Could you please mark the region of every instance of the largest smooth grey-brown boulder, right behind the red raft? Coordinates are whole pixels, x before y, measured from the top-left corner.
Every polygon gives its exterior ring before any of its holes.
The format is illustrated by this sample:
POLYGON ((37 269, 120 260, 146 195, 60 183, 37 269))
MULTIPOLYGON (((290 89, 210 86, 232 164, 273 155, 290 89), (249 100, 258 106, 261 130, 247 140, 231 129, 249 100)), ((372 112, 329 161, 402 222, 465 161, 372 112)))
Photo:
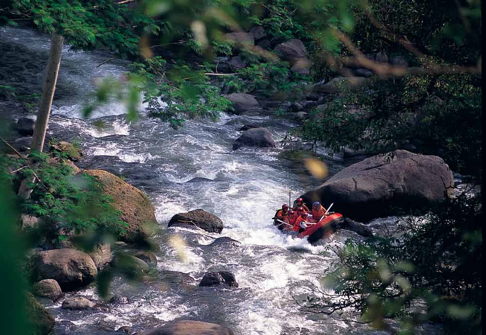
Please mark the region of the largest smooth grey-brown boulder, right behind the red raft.
POLYGON ((341 170, 302 195, 304 201, 319 201, 324 206, 334 203, 333 211, 365 222, 389 213, 392 207, 430 207, 452 195, 452 172, 440 157, 406 150, 390 154, 364 159, 341 170))

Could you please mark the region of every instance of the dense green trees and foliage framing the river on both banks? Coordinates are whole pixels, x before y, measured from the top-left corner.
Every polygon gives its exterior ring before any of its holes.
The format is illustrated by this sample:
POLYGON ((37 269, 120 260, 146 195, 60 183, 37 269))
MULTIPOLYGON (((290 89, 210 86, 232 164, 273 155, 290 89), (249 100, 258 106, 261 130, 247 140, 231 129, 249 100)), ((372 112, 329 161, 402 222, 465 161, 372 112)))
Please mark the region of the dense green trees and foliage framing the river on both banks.
MULTIPOLYGON (((64 36, 73 49, 107 49, 132 61, 126 86, 113 80, 101 83, 86 115, 120 98, 128 101, 128 114, 135 119, 141 92, 150 114, 174 127, 186 118, 214 120, 231 108, 222 88, 293 99, 304 83, 329 81, 352 67, 373 70, 365 88, 330 94, 325 112, 315 109, 289 131, 288 139, 336 151, 347 146, 370 153, 412 148, 436 154, 453 171, 472 176, 479 191, 405 220, 395 235, 348 241, 337 250, 339 262, 325 277, 333 292, 313 287, 308 299, 297 301, 307 311, 333 316, 352 308, 340 317, 380 329, 386 328, 386 318, 396 317, 403 334, 426 320, 447 323, 451 334, 481 333, 481 1, 134 2, 6 1, 0 21, 29 22, 42 32, 64 36), (295 73, 275 55, 223 39, 225 33, 253 26, 263 27, 275 41, 301 39, 312 60, 310 74, 295 73), (176 52, 175 65, 164 58, 164 48, 176 52), (365 54, 376 53, 399 56, 409 67, 370 63, 365 54), (190 61, 193 55, 202 61, 190 61), (218 55, 239 55, 247 65, 230 75, 212 76, 217 72, 212 60, 218 55), (417 303, 423 304, 423 313, 415 313, 417 303)), ((0 94, 31 107, 37 98, 15 96, 15 88, 5 86, 0 94)), ((30 159, 11 164, 2 157, 0 180, 9 191, 32 171, 41 182, 31 185, 30 199, 14 199, 9 192, 0 206, 9 201, 18 212, 62 221, 77 233, 117 236, 123 231, 119 213, 92 178, 80 176, 83 187, 78 187, 63 163, 48 164, 38 153, 30 159), (27 163, 32 169, 15 177, 8 173, 7 166, 12 171, 27 163)), ((11 221, 18 222, 14 215, 2 219, 6 221, 0 226, 7 230, 11 221)), ((10 230, 5 234, 12 235, 10 230)), ((54 237, 62 242, 61 235, 54 237)))

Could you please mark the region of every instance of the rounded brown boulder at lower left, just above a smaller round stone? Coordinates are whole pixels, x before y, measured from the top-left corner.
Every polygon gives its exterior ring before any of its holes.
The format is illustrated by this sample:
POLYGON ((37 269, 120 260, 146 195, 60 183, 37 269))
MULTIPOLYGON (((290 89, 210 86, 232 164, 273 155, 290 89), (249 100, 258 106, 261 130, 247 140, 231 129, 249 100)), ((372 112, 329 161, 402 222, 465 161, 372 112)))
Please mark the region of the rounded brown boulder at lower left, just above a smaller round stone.
POLYGON ((38 252, 30 259, 30 268, 34 281, 54 279, 63 290, 89 284, 98 274, 91 257, 74 249, 38 252))

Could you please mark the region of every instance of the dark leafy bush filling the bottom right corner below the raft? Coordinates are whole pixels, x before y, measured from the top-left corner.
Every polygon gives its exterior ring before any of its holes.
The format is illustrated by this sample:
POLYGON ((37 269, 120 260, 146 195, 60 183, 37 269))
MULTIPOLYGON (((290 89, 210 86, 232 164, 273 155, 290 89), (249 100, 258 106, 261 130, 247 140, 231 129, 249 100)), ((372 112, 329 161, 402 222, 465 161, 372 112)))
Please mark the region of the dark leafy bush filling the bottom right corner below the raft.
MULTIPOLYGON (((446 334, 481 334, 482 196, 457 197, 423 217, 397 223, 390 236, 348 240, 323 278, 332 289, 314 290, 301 306, 355 316, 377 328, 398 317, 402 330, 426 321, 446 323, 446 334), (423 302, 425 310, 411 309, 423 302)), ((411 333, 409 333, 411 332, 411 333)))

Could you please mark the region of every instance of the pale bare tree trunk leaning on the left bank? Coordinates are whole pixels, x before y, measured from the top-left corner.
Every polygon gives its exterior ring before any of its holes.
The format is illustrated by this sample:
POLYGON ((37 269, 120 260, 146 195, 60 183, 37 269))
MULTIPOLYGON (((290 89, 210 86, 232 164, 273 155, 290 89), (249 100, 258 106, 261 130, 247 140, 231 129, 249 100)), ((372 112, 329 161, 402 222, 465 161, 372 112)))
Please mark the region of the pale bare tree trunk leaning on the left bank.
MULTIPOLYGON (((51 52, 47 62, 46 76, 44 78, 42 96, 39 103, 39 112, 37 114, 37 120, 35 121, 31 151, 41 152, 44 146, 47 124, 49 123, 49 116, 51 115, 52 98, 54 97, 57 75, 59 73, 59 66, 61 65, 62 46, 63 37, 53 33, 51 36, 51 52)), ((35 177, 22 180, 22 184, 18 189, 18 195, 24 199, 29 198, 32 193, 32 188, 29 187, 28 184, 33 182, 35 182, 35 177)))

